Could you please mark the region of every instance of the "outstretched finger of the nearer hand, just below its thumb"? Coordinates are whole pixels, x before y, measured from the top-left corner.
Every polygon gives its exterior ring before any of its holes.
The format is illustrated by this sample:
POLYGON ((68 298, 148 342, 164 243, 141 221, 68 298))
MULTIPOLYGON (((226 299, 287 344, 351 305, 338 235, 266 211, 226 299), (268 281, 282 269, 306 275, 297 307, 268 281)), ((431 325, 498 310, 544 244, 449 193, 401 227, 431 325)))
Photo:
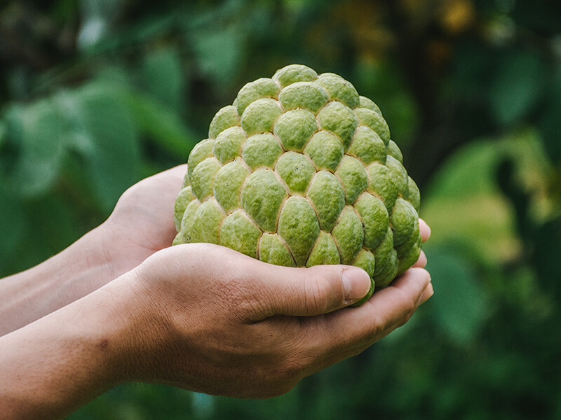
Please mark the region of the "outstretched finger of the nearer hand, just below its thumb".
POLYGON ((360 307, 337 311, 325 317, 318 325, 312 325, 309 333, 316 334, 318 346, 330 337, 331 343, 344 349, 370 345, 403 325, 417 310, 424 291, 431 283, 431 276, 425 269, 411 268, 390 286, 374 293, 370 300, 360 307))

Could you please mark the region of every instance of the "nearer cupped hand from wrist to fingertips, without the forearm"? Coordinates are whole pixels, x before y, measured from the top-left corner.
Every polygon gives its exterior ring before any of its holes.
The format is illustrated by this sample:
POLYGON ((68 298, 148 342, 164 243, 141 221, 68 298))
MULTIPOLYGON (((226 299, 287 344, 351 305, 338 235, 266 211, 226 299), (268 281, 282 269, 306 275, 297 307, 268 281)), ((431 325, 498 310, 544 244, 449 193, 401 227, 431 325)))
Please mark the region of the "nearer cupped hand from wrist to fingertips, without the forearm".
POLYGON ((278 267, 212 244, 164 249, 121 279, 137 329, 127 379, 241 398, 283 394, 360 353, 432 295, 414 267, 351 308, 370 287, 363 269, 278 267))

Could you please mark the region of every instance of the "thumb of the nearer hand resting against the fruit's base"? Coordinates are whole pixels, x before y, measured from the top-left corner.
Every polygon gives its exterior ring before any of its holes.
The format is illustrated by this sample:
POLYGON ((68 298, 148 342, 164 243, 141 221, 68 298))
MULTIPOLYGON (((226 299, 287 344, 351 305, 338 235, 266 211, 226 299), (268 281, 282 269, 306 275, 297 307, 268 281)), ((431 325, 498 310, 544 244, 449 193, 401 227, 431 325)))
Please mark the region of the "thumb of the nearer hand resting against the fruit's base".
POLYGON ((266 316, 312 316, 347 307, 370 290, 370 276, 359 267, 316 265, 309 268, 265 264, 266 316))

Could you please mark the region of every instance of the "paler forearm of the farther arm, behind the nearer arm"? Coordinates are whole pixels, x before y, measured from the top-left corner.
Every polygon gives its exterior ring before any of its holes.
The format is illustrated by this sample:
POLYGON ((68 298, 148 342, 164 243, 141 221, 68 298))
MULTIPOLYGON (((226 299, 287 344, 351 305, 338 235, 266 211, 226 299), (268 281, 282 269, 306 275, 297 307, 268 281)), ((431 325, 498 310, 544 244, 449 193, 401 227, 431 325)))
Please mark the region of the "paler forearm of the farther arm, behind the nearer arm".
POLYGON ((104 229, 102 225, 40 265, 0 280, 0 336, 114 279, 107 244, 102 244, 104 229))

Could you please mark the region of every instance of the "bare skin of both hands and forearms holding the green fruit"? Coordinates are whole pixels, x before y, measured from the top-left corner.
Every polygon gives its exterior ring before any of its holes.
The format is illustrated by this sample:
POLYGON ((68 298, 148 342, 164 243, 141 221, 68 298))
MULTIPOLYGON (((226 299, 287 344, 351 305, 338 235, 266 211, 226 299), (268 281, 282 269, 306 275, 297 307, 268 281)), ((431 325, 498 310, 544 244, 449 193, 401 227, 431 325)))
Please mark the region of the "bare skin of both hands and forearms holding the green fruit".
MULTIPOLYGON (((60 418, 127 381, 281 395, 367 349, 433 294, 424 254, 346 308, 370 286, 358 267, 276 267, 212 244, 169 248, 183 174, 138 183, 99 228, 0 281, 6 419, 60 418)), ((421 234, 430 235, 424 222, 421 234)))

